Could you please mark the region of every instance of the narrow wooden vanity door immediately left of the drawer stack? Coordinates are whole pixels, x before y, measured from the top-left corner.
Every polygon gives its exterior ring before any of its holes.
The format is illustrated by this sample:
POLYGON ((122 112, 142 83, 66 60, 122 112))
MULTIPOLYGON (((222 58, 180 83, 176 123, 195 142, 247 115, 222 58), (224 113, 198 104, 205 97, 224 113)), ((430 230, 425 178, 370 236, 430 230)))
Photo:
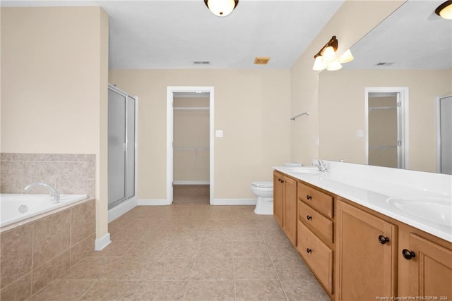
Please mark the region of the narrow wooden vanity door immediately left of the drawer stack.
POLYGON ((297 180, 284 176, 283 230, 292 244, 297 246, 297 180))

